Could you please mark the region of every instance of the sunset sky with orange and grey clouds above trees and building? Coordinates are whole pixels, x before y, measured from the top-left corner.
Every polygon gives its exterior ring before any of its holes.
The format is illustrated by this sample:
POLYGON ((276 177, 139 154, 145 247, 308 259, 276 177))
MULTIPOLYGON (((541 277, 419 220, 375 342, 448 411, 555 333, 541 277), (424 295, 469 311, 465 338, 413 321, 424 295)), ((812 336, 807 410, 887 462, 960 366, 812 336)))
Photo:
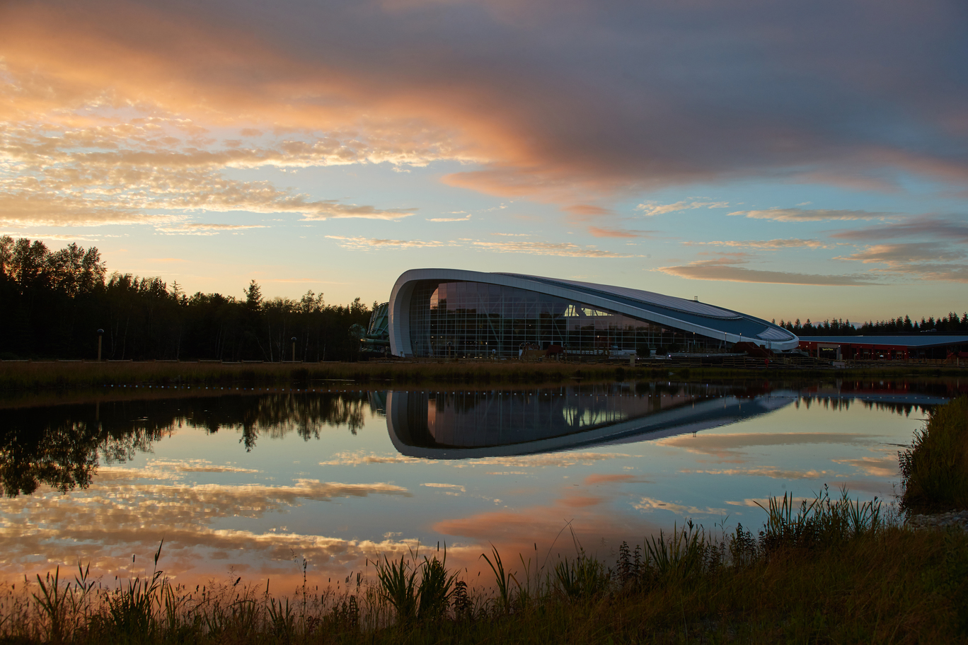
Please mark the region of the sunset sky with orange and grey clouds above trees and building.
POLYGON ((404 271, 968 308, 968 5, 0 4, 0 234, 188 293, 404 271))

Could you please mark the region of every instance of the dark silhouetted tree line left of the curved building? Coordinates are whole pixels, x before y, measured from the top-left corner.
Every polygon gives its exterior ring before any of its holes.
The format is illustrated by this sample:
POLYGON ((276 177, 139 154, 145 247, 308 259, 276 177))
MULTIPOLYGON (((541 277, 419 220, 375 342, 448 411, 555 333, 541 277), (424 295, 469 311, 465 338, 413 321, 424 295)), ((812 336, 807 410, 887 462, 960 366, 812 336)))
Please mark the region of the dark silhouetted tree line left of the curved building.
MULTIPOLYGON (((375 304, 376 305, 376 304, 375 304)), ((255 280, 239 298, 188 295, 178 282, 107 274, 100 251, 0 237, 0 358, 352 361, 371 309, 356 298, 326 305, 263 298, 255 280), (352 328, 352 330, 350 329, 352 328)))

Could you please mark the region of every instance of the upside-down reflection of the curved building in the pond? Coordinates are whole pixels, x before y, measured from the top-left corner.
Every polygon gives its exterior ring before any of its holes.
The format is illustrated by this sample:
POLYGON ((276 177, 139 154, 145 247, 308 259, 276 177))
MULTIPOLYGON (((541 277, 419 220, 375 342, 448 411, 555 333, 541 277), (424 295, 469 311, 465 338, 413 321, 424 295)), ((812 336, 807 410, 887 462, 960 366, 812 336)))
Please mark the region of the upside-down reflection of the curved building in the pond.
POLYGON ((390 392, 386 424, 402 454, 432 459, 533 454, 625 443, 736 423, 798 393, 738 393, 701 384, 634 389, 390 392))

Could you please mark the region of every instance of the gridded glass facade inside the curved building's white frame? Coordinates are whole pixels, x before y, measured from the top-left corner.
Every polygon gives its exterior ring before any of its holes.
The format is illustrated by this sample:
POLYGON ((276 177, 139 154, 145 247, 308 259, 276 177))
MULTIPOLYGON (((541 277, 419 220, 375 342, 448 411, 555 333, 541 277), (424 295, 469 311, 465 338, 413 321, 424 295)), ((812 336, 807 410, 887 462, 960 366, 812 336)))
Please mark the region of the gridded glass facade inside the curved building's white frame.
POLYGON ((560 346, 569 355, 722 351, 723 341, 499 284, 421 280, 409 310, 413 355, 517 358, 560 346))

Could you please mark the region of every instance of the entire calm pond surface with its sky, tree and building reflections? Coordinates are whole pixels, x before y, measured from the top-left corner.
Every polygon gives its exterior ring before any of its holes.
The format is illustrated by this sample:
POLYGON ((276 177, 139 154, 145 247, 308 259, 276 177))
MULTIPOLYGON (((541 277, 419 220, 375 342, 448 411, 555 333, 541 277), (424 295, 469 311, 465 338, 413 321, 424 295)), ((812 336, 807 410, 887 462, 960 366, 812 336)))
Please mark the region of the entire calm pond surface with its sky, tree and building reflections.
POLYGON ((688 518, 758 528, 756 502, 784 492, 890 499, 899 445, 959 387, 126 389, 8 407, 0 568, 128 575, 164 538, 182 581, 286 589, 302 558, 335 584, 418 541, 468 567, 489 542, 545 557, 573 549, 566 526, 609 558, 688 518))

